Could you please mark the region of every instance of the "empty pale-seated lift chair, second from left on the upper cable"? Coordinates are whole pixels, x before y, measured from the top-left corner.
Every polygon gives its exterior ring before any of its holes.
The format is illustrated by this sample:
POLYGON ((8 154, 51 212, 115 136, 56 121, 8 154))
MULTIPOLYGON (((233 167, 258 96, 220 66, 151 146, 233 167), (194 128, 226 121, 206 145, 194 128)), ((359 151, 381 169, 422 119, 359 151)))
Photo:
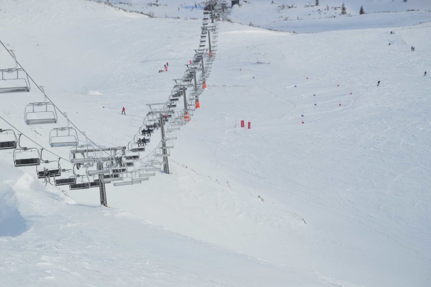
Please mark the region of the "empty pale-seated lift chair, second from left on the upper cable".
POLYGON ((53 103, 48 102, 47 95, 42 87, 39 87, 44 93, 45 101, 38 103, 29 103, 25 106, 24 120, 27 125, 39 124, 56 124, 57 112, 53 103))

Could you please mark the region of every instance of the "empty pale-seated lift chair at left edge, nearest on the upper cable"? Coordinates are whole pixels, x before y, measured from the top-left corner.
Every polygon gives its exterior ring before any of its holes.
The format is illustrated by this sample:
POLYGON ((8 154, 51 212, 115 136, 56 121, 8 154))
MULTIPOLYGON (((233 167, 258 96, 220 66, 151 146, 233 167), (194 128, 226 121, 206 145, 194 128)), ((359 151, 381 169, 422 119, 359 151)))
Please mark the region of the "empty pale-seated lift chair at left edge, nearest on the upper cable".
POLYGON ((18 62, 12 50, 9 50, 15 60, 13 68, 0 69, 0 93, 30 92, 30 81, 28 74, 23 68, 18 68, 18 62))

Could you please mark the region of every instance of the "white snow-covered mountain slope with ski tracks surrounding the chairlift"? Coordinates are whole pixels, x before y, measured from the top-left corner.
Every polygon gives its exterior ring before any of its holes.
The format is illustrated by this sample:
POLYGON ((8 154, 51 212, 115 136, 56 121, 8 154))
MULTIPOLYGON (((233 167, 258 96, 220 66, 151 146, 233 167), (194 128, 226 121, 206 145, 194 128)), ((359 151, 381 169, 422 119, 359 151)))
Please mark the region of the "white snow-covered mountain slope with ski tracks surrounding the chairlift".
MULTIPOLYGON (((208 88, 177 131, 170 175, 108 184, 105 208, 98 189, 45 186, 0 151, 1 286, 431 285, 429 3, 364 1, 370 13, 359 16, 345 1, 351 16, 275 23, 270 1, 248 2, 230 16, 246 25, 219 23, 208 88)), ((148 13, 131 3, 118 7, 148 13)), ((0 40, 89 139, 126 145, 199 45, 202 9, 158 3, 150 18, 91 1, 4 0, 0 40)), ((292 17, 309 9, 296 6, 292 17)), ((0 48, 0 68, 13 66, 0 48)), ((0 128, 69 158, 49 147, 50 130, 67 124, 60 113, 57 125, 25 124, 25 105, 44 100, 31 85, 0 95, 13 125, 0 128)))

